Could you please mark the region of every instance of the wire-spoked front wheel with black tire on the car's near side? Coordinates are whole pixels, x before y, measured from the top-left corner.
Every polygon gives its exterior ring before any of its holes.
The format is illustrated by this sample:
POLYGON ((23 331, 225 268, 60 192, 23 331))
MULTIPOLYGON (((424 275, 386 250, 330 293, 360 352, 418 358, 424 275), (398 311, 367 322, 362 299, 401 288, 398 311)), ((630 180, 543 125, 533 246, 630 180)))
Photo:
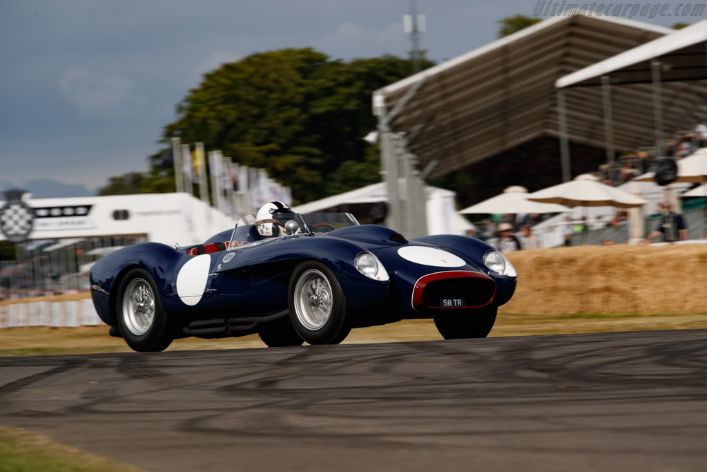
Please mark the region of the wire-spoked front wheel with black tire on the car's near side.
POLYGON ((314 261, 298 265, 288 299, 292 325, 307 343, 339 344, 349 335, 346 297, 326 265, 314 261))

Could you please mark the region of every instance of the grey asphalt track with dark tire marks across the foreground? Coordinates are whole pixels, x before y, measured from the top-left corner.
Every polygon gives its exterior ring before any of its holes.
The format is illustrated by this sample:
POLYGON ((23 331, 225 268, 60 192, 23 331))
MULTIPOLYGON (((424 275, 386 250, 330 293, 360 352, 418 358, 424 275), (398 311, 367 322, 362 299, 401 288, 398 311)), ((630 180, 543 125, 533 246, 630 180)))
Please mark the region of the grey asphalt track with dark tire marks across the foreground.
POLYGON ((148 471, 707 469, 707 330, 6 357, 0 384, 0 425, 148 471))

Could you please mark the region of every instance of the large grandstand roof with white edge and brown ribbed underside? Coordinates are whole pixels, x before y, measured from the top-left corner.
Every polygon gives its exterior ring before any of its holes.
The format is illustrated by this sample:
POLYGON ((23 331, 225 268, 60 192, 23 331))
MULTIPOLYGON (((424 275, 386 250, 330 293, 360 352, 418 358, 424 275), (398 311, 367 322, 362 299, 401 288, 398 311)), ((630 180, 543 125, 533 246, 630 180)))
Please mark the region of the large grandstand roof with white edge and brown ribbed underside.
MULTIPOLYGON (((558 136, 556 79, 673 31, 614 17, 557 16, 375 91, 374 111, 384 100, 390 113, 409 92, 390 125, 409 133, 421 165, 440 161, 431 177, 444 175, 537 137, 558 136)), ((653 136, 650 86, 631 87, 614 97, 619 151, 653 136)), ((696 96, 707 96, 705 84, 666 85, 670 132, 697 120, 696 96)), ((571 142, 603 147, 600 88, 573 89, 566 101, 571 142)))

